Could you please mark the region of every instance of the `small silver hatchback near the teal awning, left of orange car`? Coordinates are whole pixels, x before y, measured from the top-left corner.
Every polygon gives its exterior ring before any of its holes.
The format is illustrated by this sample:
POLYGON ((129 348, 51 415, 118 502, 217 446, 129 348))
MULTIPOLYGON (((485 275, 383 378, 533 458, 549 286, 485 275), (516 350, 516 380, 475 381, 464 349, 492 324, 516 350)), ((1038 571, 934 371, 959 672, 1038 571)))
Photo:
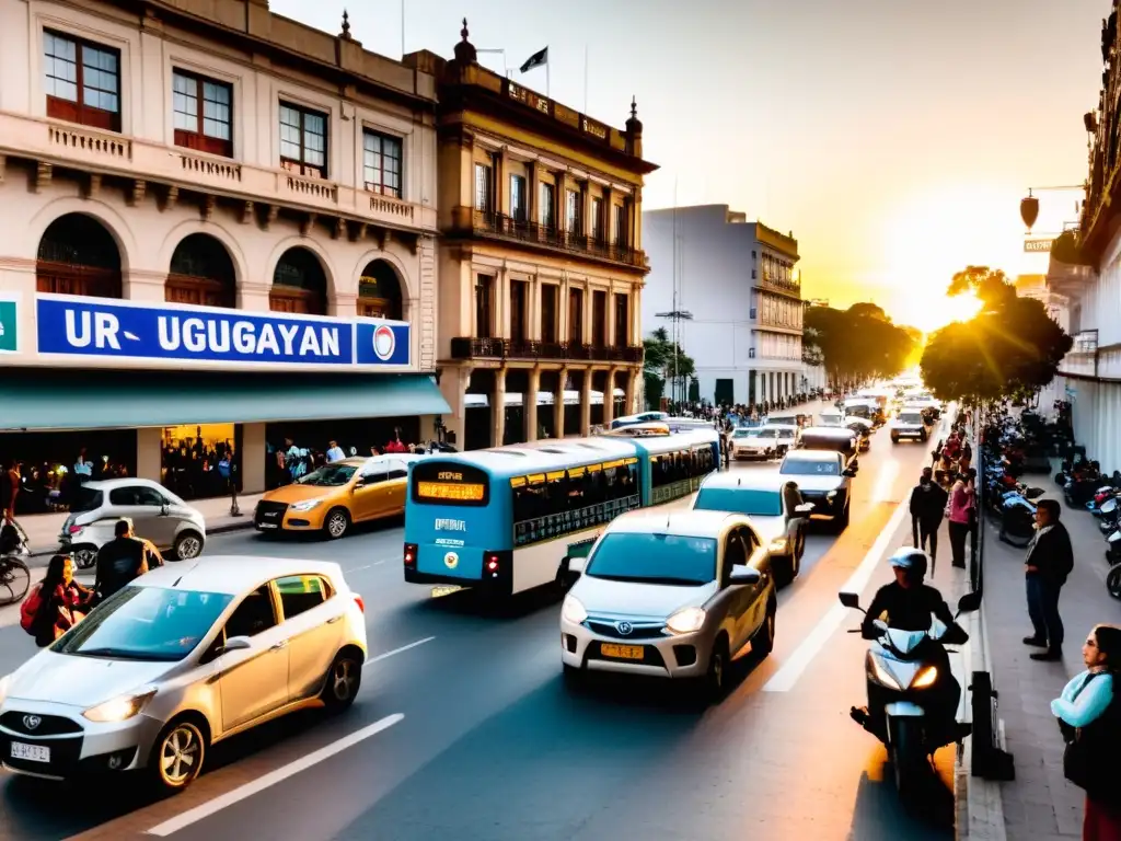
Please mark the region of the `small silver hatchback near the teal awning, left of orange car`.
POLYGON ((75 492, 58 540, 80 570, 93 566, 98 549, 113 539, 120 519, 132 520, 138 537, 179 561, 202 554, 206 521, 202 511, 150 479, 86 482, 75 492))

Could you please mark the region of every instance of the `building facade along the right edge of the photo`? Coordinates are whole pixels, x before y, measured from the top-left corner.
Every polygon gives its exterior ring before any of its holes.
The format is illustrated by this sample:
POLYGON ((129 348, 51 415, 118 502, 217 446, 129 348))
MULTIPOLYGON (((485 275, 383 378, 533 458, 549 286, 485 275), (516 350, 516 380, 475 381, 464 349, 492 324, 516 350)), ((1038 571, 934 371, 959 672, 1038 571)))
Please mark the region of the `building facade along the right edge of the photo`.
MULTIPOLYGON (((1076 248, 1051 250, 1047 286, 1067 302, 1074 346, 1059 373, 1075 442, 1102 470, 1121 470, 1121 40, 1117 0, 1102 22, 1102 87, 1084 118, 1091 133, 1076 248), (1058 251, 1056 253, 1056 251, 1058 251)), ((1073 130, 1074 127, 1072 127, 1073 130)))

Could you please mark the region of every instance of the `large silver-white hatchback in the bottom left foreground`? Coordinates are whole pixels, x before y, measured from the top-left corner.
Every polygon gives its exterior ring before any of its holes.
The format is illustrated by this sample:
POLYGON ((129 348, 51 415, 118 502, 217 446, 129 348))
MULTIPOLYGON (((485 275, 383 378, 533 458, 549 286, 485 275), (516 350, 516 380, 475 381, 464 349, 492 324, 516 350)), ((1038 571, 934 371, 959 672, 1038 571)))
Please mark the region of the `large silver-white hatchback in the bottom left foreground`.
POLYGON ((351 705, 362 599, 337 564, 216 556, 154 570, 0 678, 0 764, 47 779, 198 776, 212 745, 351 705))

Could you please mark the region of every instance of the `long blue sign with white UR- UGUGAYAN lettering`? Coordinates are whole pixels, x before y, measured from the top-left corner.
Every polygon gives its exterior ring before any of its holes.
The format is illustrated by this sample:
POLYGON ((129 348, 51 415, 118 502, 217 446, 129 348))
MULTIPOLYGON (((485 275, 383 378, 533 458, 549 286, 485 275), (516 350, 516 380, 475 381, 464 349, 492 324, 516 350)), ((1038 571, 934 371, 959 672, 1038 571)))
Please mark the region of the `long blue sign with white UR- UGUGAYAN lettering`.
POLYGON ((39 353, 316 366, 405 366, 409 325, 70 295, 36 299, 39 353))

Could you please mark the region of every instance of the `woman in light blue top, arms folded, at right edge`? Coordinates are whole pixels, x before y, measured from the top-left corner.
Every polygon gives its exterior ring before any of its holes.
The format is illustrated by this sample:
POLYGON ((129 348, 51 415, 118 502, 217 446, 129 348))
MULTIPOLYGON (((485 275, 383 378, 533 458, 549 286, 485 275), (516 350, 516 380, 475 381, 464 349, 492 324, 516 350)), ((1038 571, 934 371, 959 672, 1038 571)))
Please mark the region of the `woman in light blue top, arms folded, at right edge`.
POLYGON ((1086 671, 1051 701, 1066 741, 1063 770, 1086 792, 1083 841, 1121 841, 1121 628, 1099 625, 1082 646, 1086 671))

